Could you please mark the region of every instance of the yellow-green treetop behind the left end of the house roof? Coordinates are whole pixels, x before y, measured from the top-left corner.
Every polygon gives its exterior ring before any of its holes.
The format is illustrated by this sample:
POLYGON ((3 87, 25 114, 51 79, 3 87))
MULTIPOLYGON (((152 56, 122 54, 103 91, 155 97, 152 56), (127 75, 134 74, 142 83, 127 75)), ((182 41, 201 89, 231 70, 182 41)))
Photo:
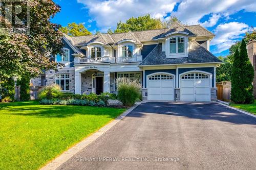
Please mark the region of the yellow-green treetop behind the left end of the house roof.
POLYGON ((62 33, 65 33, 71 37, 74 36, 83 36, 83 35, 91 35, 92 33, 84 27, 82 23, 68 23, 67 27, 61 27, 59 29, 62 33))

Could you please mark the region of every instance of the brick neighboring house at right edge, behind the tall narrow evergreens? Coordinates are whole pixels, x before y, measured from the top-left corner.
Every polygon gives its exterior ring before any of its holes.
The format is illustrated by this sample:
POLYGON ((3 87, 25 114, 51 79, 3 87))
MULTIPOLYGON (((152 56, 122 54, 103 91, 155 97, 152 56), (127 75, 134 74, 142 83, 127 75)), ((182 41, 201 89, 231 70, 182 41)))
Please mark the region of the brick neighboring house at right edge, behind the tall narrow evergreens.
POLYGON ((246 48, 249 60, 254 68, 253 95, 254 99, 256 99, 256 40, 249 41, 246 44, 246 48))

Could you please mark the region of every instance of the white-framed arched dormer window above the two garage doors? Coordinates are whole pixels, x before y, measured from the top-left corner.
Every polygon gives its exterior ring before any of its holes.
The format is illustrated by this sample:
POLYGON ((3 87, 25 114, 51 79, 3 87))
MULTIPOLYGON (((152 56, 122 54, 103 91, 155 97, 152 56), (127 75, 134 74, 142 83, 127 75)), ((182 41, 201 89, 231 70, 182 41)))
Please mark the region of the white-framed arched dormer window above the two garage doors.
POLYGON ((184 38, 174 37, 170 39, 170 54, 184 53, 184 38))

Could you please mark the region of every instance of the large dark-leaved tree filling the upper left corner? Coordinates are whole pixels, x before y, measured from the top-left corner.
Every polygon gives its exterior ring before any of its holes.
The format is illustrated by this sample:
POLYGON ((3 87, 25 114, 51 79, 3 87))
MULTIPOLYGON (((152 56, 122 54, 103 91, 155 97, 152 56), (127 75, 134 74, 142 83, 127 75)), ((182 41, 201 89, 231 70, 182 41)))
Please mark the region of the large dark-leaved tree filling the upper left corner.
MULTIPOLYGON (((0 18, 0 82, 14 76, 34 77, 42 70, 55 69, 57 63, 50 60, 50 54, 62 53, 62 33, 58 31, 60 26, 50 21, 60 11, 60 7, 51 0, 24 1, 20 6, 29 7, 29 34, 11 31, 14 27, 5 15, 0 18)), ((20 15, 26 14, 27 11, 23 10, 20 15)), ((23 21, 26 23, 28 20, 23 21)))

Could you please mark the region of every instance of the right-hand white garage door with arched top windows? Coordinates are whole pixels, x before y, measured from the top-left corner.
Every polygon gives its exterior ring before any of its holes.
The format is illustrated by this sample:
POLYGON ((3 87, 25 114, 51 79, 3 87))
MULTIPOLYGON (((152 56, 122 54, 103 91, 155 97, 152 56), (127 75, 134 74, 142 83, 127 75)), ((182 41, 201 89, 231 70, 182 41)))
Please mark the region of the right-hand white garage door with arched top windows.
POLYGON ((210 77, 201 73, 181 76, 181 101, 210 101, 210 77))

